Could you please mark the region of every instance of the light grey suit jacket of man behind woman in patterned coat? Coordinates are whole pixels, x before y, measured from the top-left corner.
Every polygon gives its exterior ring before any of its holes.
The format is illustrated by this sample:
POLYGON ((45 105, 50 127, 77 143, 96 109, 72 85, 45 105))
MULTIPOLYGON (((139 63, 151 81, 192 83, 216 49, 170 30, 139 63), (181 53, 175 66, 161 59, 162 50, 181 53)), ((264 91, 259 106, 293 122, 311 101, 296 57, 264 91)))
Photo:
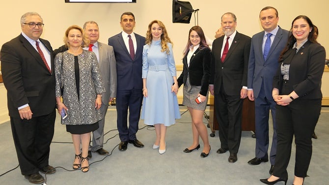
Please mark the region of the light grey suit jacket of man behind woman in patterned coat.
POLYGON ((109 104, 110 97, 116 96, 116 61, 112 46, 98 43, 99 68, 102 74, 105 93, 103 93, 103 104, 109 104))

